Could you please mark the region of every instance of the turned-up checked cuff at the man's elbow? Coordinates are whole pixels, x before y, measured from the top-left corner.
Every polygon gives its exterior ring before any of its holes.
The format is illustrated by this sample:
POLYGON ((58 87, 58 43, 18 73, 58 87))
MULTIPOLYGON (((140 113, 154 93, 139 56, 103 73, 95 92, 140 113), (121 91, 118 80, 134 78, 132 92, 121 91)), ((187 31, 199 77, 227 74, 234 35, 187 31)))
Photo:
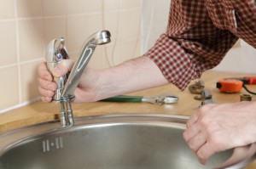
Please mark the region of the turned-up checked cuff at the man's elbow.
POLYGON ((184 90, 189 82, 201 76, 201 70, 192 63, 193 54, 186 50, 173 38, 162 34, 146 54, 160 68, 168 82, 184 90))

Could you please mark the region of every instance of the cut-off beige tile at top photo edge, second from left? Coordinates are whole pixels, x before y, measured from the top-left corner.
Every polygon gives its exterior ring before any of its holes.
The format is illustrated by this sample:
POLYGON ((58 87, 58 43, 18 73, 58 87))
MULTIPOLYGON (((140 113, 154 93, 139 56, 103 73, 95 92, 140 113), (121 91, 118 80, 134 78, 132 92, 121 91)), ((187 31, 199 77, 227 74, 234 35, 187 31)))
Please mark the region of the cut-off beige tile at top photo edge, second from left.
POLYGON ((42 16, 42 0, 16 0, 18 18, 42 16))

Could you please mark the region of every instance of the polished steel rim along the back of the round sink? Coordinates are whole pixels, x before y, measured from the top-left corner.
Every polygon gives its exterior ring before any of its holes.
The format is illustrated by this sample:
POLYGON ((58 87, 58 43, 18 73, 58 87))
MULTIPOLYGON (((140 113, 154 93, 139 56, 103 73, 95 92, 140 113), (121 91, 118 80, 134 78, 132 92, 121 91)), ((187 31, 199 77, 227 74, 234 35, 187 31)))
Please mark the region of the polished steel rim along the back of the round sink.
POLYGON ((16 144, 23 142, 28 138, 38 137, 47 132, 59 132, 72 130, 77 127, 90 126, 107 123, 131 123, 131 122, 168 122, 173 127, 186 128, 187 115, 172 114, 148 114, 148 113, 128 113, 128 114, 108 114, 108 115, 84 115, 75 117, 75 125, 72 127, 61 127, 60 120, 45 121, 38 124, 28 125, 26 127, 16 128, 7 132, 0 133, 0 156, 11 149, 16 144))

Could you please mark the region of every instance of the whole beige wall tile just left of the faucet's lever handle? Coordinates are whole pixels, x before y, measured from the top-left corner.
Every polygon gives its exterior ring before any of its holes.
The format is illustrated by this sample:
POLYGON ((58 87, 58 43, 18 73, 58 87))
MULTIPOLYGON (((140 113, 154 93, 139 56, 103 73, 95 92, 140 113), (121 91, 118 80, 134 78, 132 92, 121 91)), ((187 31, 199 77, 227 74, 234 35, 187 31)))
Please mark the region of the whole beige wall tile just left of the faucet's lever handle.
POLYGON ((19 21, 20 61, 44 55, 43 20, 19 21))

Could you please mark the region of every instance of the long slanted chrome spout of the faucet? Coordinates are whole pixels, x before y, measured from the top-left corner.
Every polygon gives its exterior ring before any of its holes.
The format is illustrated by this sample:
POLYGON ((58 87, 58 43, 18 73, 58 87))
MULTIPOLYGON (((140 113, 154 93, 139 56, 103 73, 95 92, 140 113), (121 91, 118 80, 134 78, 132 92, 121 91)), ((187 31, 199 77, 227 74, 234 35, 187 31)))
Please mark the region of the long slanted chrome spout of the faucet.
POLYGON ((109 31, 98 31, 88 37, 87 41, 84 42, 79 53, 79 58, 73 65, 73 69, 71 70, 61 93, 63 99, 73 99, 73 93, 79 85, 80 77, 84 73, 84 69, 86 65, 88 65, 96 46, 111 42, 110 37, 111 35, 109 31))

